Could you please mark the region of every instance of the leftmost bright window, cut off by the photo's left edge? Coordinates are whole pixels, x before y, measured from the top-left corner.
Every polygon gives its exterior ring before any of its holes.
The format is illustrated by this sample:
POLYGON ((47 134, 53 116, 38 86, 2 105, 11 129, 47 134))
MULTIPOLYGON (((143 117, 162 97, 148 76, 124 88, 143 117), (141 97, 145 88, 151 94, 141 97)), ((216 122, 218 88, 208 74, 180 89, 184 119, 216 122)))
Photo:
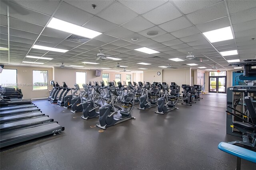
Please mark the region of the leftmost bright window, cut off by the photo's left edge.
POLYGON ((16 69, 3 69, 0 73, 0 85, 17 87, 17 70, 16 69))

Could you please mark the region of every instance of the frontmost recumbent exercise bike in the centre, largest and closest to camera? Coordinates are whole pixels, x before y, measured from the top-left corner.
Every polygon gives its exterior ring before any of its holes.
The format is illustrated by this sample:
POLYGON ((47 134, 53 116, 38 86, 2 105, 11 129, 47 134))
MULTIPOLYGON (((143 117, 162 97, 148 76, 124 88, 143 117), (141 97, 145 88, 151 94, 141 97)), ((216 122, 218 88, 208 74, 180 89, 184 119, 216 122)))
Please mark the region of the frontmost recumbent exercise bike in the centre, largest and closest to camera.
MULTIPOLYGON (((135 117, 132 116, 131 111, 133 107, 133 99, 134 94, 128 94, 126 97, 126 109, 122 110, 121 107, 115 105, 116 99, 118 97, 118 93, 116 91, 115 87, 109 87, 110 92, 112 93, 111 102, 110 104, 106 104, 104 106, 100 107, 100 117, 99 121, 100 124, 96 125, 97 127, 106 130, 106 127, 110 127, 113 125, 116 125, 117 123, 121 123, 123 121, 129 120, 129 119, 135 119, 135 117), (121 116, 114 116, 116 113, 121 114, 121 116)), ((133 89, 133 88, 131 88, 133 89)))

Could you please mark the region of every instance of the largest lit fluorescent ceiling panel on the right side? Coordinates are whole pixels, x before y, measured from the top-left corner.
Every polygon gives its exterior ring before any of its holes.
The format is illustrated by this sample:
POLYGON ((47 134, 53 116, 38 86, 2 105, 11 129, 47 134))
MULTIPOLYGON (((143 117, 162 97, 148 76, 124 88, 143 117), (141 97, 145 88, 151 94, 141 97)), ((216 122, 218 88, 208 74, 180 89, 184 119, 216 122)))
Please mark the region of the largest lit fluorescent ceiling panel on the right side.
POLYGON ((212 31, 204 32, 203 34, 211 43, 234 39, 230 27, 215 29, 212 31))

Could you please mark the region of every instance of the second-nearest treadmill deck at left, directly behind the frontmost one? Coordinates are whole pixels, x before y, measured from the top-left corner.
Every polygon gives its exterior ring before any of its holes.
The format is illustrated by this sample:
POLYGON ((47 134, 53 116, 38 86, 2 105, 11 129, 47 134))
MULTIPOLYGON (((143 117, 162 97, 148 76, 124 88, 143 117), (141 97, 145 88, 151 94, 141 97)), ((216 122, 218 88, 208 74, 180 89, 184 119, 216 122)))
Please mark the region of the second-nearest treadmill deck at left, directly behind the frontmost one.
POLYGON ((49 123, 52 121, 53 121, 53 119, 49 118, 48 116, 40 116, 40 117, 34 117, 34 118, 30 118, 30 119, 22 119, 20 121, 14 121, 14 122, 10 122, 10 123, 1 124, 0 130, 1 130, 1 132, 6 131, 6 130, 10 131, 13 129, 19 129, 19 128, 28 127, 28 126, 49 123))

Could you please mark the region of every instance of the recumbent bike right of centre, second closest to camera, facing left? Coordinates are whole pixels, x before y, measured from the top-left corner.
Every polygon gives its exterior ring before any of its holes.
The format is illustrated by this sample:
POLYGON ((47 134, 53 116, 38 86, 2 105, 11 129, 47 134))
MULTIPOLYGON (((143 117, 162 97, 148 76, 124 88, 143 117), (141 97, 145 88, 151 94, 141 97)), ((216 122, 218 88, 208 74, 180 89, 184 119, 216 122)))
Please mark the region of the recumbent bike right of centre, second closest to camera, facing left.
POLYGON ((158 99, 158 111, 155 111, 155 113, 158 114, 164 114, 166 112, 172 111, 174 109, 179 109, 178 107, 175 107, 179 97, 176 96, 176 90, 175 88, 171 90, 170 95, 169 93, 169 87, 168 85, 162 85, 162 88, 164 90, 163 97, 158 99))

